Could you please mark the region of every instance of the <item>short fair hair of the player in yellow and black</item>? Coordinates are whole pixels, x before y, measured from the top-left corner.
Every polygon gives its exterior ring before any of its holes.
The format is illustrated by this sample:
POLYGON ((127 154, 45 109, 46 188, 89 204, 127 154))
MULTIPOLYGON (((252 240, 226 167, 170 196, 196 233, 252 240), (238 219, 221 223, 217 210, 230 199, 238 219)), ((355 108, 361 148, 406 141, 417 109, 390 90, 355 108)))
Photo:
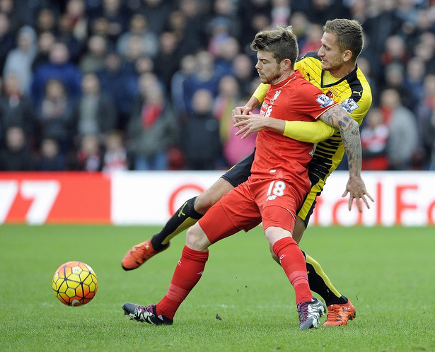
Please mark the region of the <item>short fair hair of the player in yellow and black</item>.
POLYGON ((323 32, 334 34, 337 37, 337 45, 340 50, 350 50, 352 60, 356 61, 364 47, 363 30, 357 20, 348 20, 347 18, 327 20, 323 26, 323 32))

